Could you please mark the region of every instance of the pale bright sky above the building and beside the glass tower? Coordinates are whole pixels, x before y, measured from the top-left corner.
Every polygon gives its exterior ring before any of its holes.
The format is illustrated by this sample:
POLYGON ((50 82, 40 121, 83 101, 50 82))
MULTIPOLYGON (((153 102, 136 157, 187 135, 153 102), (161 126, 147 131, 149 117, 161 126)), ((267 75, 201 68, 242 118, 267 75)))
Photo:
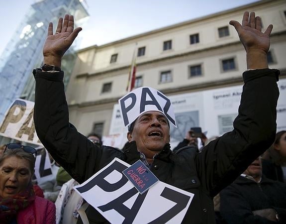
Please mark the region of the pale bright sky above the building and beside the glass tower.
MULTIPOLYGON (((86 0, 81 48, 102 45, 257 0, 86 0)), ((0 54, 35 0, 2 0, 0 54)))

